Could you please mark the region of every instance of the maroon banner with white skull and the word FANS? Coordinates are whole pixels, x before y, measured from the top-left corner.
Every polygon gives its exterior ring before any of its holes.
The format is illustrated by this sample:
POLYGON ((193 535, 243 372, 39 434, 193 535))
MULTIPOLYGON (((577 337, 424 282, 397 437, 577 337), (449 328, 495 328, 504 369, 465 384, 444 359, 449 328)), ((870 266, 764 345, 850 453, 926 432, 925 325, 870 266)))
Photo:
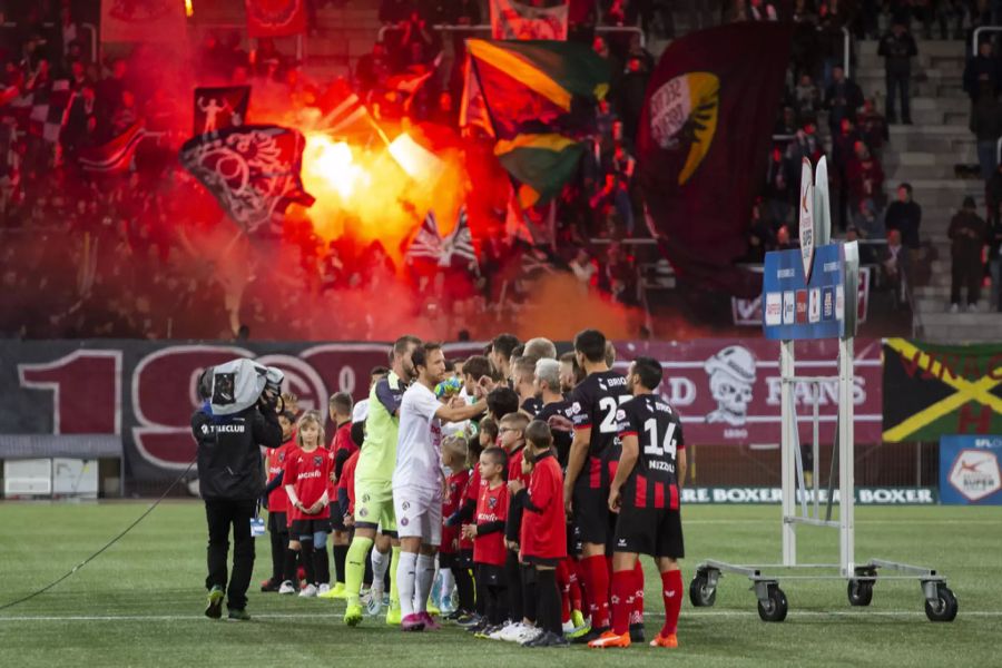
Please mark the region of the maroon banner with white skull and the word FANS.
MULTIPOLYGON (((686 443, 779 442, 779 344, 763 338, 705 338, 686 342, 617 342, 616 369, 626 372, 630 360, 649 355, 661 361, 665 380, 659 392, 678 411, 686 443)), ((797 372, 836 375, 838 342, 796 343, 797 372)), ((882 433, 881 344, 857 338, 853 404, 856 443, 880 443, 882 433)), ((832 443, 838 412, 838 382, 796 383, 794 399, 800 442, 813 438, 811 420, 818 404, 821 438, 832 443)))

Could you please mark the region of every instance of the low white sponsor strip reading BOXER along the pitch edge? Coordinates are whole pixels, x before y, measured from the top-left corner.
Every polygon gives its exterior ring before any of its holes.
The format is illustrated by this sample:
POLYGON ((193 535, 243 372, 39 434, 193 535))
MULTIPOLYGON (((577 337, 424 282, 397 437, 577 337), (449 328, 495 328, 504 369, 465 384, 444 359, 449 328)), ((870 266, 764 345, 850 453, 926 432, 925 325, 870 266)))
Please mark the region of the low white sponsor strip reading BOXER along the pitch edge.
MULTIPOLYGON (((802 494, 797 492, 797 502, 802 494)), ((807 502, 814 501, 813 490, 805 495, 807 502)), ((835 503, 838 503, 838 490, 834 490, 835 503)), ((856 488, 857 505, 934 505, 937 502, 935 488, 856 488)), ((818 501, 827 503, 828 491, 819 490, 818 501)), ((705 504, 772 504, 783 502, 780 488, 744 488, 744 487, 687 487, 681 490, 681 503, 691 505, 705 504)))

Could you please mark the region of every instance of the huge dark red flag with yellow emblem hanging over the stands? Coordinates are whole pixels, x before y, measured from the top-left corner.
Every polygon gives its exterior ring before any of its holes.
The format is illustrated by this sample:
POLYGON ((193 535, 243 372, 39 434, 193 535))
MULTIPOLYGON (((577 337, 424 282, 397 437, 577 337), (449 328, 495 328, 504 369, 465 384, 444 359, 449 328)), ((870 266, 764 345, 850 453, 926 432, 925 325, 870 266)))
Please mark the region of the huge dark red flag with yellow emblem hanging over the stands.
POLYGON ((790 39, 789 23, 694 32, 665 49, 647 87, 637 143, 648 224, 689 287, 762 289, 733 263, 746 250, 790 39))

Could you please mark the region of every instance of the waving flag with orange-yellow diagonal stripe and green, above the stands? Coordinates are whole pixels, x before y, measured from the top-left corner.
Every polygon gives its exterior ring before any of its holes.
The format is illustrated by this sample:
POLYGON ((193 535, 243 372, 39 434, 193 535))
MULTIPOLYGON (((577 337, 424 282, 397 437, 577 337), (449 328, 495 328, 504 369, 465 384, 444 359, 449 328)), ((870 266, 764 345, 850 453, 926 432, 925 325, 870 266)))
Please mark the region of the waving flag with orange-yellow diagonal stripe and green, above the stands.
POLYGON ((606 59, 566 41, 466 40, 463 109, 483 109, 477 124, 498 140, 494 155, 519 181, 522 206, 559 195, 595 129, 595 105, 609 90, 606 59))

